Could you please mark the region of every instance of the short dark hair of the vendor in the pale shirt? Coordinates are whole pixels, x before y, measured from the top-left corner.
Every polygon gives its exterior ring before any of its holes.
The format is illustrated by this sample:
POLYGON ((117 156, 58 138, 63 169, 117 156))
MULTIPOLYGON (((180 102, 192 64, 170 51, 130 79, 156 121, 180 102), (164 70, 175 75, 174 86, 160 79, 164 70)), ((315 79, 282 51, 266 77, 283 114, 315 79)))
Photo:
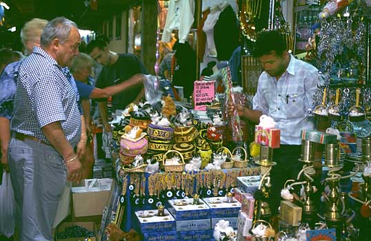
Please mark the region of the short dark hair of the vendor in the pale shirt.
POLYGON ((254 56, 259 58, 263 55, 272 54, 275 51, 281 56, 283 51, 287 50, 287 45, 283 35, 277 30, 263 30, 257 36, 255 43, 254 56))

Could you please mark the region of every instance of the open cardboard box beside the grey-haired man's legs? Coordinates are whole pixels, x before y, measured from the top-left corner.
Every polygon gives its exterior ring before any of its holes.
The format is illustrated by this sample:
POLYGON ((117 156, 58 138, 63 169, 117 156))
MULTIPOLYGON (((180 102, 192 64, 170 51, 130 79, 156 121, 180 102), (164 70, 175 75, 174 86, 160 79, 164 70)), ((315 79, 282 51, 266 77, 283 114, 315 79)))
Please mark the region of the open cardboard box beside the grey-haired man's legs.
POLYGON ((95 179, 86 180, 83 187, 72 187, 74 217, 102 215, 110 200, 112 185, 112 179, 95 179))

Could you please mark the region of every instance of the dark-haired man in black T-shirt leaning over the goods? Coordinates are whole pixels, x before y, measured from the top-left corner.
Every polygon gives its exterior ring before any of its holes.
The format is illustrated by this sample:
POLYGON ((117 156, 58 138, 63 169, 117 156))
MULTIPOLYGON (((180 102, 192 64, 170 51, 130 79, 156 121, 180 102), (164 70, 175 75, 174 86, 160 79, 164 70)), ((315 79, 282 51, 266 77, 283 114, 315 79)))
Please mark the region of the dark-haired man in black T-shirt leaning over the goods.
MULTIPOLYGON (((103 65, 103 70, 99 74, 96 87, 105 88, 116 85, 134 74, 147 74, 146 67, 134 54, 112 54, 103 41, 94 40, 86 48, 92 58, 103 65)), ((143 83, 132 87, 128 91, 120 92, 112 96, 112 109, 125 109, 127 105, 137 103, 144 95, 143 83)), ((110 125, 107 120, 106 99, 99 100, 99 112, 101 114, 103 127, 110 132, 110 125)))

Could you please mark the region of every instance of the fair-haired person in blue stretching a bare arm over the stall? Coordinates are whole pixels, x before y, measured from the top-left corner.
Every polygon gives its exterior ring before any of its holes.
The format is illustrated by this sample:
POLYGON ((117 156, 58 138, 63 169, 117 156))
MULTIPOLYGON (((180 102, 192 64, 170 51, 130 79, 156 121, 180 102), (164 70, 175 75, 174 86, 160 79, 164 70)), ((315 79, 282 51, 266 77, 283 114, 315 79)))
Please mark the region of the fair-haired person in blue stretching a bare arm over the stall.
MULTIPOLYGON (((90 74, 92 73, 92 67, 94 66, 94 60, 88 56, 88 54, 80 53, 72 61, 70 70, 74 79, 77 81, 77 90, 79 90, 79 95, 81 98, 81 105, 83 108, 83 115, 86 121, 86 132, 88 136, 92 135, 92 118, 90 116, 90 100, 97 98, 108 98, 119 92, 129 90, 135 85, 143 83, 143 74, 134 74, 127 81, 118 83, 117 85, 112 85, 99 89, 90 85, 90 74)), ((83 164, 83 178, 92 178, 92 167, 94 166, 94 156, 92 154, 92 149, 90 148, 90 143, 86 145, 86 154, 81 157, 81 162, 83 164)))

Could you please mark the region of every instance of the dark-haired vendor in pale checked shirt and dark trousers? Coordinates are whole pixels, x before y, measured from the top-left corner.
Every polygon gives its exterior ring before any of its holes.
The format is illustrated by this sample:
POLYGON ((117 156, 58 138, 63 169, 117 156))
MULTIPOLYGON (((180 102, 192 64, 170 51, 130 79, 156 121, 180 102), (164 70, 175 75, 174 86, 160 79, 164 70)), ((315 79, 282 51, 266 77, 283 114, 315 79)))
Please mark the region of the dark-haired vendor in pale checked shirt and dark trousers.
MULTIPOLYGON (((259 60, 263 73, 259 77, 253 109, 237 105, 239 116, 259 123, 262 114, 271 116, 281 129, 281 147, 274 149, 277 165, 270 171, 270 209, 278 213, 280 191, 285 180, 296 179, 302 164, 300 133, 302 129, 314 129, 308 109, 312 107, 317 85, 322 83, 316 67, 297 60, 287 50, 283 36, 276 30, 264 31, 257 37, 254 56, 259 60)), ((230 113, 234 107, 230 105, 230 113)), ((328 123, 318 123, 317 129, 325 129, 328 123)))

